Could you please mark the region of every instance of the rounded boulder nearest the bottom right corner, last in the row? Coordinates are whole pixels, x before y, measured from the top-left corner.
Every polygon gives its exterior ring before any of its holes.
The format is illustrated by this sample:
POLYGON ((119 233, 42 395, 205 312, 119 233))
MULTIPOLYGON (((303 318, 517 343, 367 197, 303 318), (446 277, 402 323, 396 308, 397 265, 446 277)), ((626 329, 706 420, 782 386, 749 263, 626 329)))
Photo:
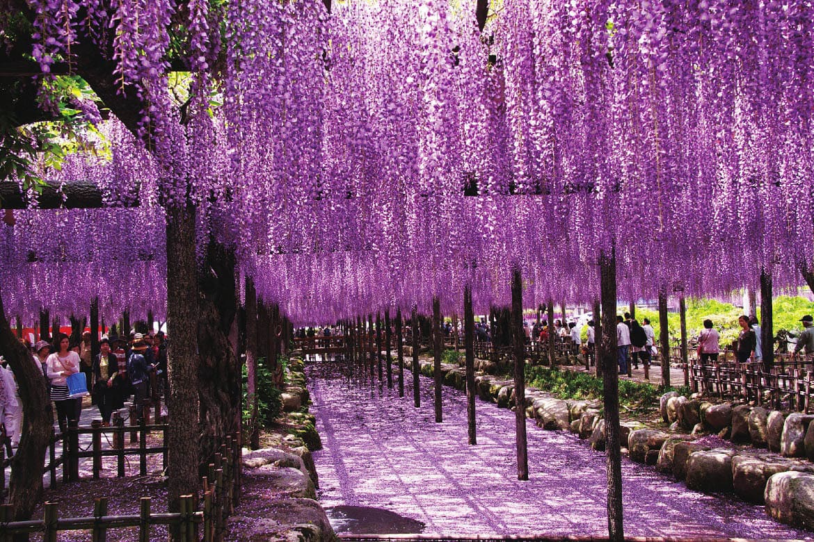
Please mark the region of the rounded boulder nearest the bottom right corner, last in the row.
POLYGON ((766 513, 781 522, 814 529, 814 475, 779 472, 766 483, 766 513))

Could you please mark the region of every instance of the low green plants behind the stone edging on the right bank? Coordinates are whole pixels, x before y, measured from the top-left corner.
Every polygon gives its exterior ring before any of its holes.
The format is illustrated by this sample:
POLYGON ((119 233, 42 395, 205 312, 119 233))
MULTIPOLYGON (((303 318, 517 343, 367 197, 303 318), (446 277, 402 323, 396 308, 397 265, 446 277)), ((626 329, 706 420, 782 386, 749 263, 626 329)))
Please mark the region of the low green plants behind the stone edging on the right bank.
MULTIPOLYGON (((557 367, 531 366, 527 368, 526 383, 549 392, 554 397, 572 401, 600 401, 603 396, 602 379, 588 373, 561 370, 557 367)), ((646 412, 659 407, 659 397, 665 391, 675 390, 689 395, 689 388, 662 388, 632 380, 619 380, 619 406, 628 411, 646 412)))

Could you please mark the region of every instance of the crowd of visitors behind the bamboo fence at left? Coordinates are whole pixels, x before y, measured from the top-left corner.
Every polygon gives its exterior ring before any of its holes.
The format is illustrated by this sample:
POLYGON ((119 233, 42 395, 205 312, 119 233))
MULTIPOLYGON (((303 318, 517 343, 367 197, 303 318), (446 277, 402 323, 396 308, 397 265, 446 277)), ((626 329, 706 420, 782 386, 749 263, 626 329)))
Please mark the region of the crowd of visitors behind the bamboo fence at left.
MULTIPOLYGON (((142 334, 133 332, 128 337, 103 335, 99 340, 99 353, 92 355, 90 332, 81 340, 72 341, 65 333, 57 333, 54 342, 38 340, 28 345, 32 360, 42 371, 42 378, 50 403, 53 403, 59 431, 68 423, 79 420, 82 397, 90 395, 102 423, 109 426, 112 413, 133 397, 138 418, 142 417, 147 397, 150 397, 151 373, 159 388, 167 383, 167 341, 164 332, 142 334), (68 386, 71 375, 85 376, 86 392, 77 392, 68 386)), ((20 443, 22 404, 15 378, 5 360, 0 364, 0 423, 6 427, 12 447, 20 443)))

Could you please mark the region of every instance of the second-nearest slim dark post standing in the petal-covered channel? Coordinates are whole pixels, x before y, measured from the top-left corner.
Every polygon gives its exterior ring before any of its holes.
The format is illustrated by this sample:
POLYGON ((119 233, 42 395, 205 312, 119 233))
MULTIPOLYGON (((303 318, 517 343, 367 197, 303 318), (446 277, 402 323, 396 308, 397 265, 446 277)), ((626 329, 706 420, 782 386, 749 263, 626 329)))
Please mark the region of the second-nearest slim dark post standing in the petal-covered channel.
MULTIPOLYGON (((471 295, 471 293, 470 293, 471 295)), ((563 309, 565 307, 563 306, 563 309)), ((514 343, 514 435, 517 441, 517 479, 528 479, 526 442, 526 333, 523 332, 523 277, 515 268, 511 280, 511 327, 514 343)), ((474 379, 473 379, 474 380, 474 379)), ((468 397, 467 397, 468 399, 468 397)))

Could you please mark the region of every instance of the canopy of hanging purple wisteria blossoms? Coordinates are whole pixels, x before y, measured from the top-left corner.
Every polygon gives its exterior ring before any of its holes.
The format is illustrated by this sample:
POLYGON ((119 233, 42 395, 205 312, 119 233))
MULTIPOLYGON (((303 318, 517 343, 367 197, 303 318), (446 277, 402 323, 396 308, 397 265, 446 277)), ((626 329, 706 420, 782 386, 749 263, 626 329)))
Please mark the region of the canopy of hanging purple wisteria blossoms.
POLYGON ((200 259, 234 246, 294 323, 452 312, 467 283, 487 310, 518 266, 527 305, 593 301, 611 247, 631 298, 793 288, 814 261, 812 2, 504 0, 482 32, 470 0, 27 5, 44 81, 113 35, 147 106, 133 129, 77 104, 112 151, 42 176, 141 206, 17 213, 9 314, 162 314, 186 197, 200 259))

